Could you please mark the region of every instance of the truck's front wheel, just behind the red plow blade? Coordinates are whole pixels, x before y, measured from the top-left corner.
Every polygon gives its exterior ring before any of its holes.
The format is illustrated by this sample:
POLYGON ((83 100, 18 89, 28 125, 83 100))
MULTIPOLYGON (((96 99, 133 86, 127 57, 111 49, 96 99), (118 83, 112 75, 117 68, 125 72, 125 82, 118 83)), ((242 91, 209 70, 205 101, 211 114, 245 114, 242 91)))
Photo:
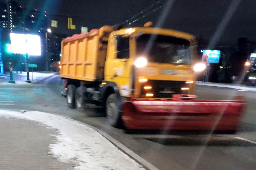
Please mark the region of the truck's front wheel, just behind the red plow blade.
POLYGON ((117 94, 110 94, 106 101, 106 117, 108 123, 113 127, 120 127, 122 124, 121 114, 118 112, 117 94))

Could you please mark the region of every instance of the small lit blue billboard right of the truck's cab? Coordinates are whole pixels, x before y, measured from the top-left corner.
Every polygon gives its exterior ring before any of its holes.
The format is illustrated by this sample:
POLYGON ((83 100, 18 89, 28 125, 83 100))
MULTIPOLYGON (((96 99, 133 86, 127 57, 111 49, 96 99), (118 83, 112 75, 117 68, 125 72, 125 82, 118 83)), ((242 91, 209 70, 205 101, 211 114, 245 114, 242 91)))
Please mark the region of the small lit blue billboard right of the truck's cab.
POLYGON ((205 63, 219 63, 220 50, 204 50, 202 61, 205 63))

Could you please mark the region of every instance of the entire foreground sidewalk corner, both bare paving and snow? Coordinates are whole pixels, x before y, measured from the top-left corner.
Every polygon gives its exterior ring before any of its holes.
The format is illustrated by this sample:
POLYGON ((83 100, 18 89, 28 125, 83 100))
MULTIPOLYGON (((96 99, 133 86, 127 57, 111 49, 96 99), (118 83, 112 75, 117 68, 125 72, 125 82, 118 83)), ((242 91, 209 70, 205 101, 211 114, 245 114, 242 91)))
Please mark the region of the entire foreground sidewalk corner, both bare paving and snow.
POLYGON ((0 169, 144 169, 88 125, 62 116, 0 110, 0 128, 0 169))

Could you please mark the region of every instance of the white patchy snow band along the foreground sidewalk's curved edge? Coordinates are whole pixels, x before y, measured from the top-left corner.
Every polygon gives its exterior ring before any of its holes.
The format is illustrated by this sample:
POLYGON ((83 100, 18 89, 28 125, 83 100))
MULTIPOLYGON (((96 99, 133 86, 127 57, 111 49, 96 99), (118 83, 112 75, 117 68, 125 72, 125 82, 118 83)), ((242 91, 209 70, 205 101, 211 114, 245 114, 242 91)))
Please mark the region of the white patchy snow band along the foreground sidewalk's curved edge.
POLYGON ((0 110, 0 117, 29 119, 57 130, 57 141, 49 145, 51 153, 60 161, 77 165, 75 169, 144 169, 100 133, 76 120, 43 112, 6 110, 0 110))

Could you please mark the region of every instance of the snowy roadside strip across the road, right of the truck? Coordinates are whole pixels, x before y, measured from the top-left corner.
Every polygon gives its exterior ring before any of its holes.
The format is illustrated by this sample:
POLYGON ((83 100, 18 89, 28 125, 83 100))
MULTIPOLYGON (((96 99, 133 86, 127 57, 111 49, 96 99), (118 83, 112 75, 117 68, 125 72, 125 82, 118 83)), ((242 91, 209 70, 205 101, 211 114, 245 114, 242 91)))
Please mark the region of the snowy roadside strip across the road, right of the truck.
POLYGON ((226 88, 234 88, 238 90, 248 90, 248 91, 256 91, 255 87, 248 87, 243 84, 224 84, 224 83, 211 83, 211 82, 196 82, 196 85, 203 86, 214 86, 214 87, 226 87, 226 88))

